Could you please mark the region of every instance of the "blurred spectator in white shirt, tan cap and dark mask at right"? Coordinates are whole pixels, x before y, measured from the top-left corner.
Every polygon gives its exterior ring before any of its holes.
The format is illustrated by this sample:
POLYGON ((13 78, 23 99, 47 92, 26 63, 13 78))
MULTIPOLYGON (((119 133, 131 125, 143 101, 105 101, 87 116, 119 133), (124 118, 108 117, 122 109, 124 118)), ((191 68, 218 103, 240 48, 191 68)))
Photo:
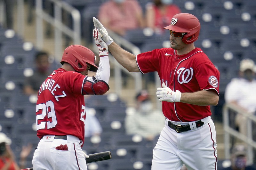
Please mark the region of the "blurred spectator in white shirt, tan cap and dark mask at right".
MULTIPOLYGON (((251 59, 240 62, 239 78, 233 78, 225 90, 225 101, 240 107, 243 112, 255 114, 256 110, 256 80, 255 63, 251 59)), ((247 135, 246 117, 237 114, 235 118, 239 131, 247 135)))

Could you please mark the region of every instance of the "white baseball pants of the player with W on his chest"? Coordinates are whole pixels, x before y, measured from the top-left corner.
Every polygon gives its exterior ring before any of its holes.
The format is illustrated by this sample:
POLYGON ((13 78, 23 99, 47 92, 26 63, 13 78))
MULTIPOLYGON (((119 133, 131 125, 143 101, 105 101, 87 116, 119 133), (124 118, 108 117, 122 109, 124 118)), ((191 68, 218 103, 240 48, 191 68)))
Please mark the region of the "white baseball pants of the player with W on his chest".
MULTIPOLYGON (((181 133, 171 129, 168 121, 165 120, 164 129, 153 150, 151 170, 180 170, 183 163, 188 170, 217 170, 216 131, 211 117, 201 120, 203 126, 181 133)), ((189 124, 171 122, 176 125, 189 124)))

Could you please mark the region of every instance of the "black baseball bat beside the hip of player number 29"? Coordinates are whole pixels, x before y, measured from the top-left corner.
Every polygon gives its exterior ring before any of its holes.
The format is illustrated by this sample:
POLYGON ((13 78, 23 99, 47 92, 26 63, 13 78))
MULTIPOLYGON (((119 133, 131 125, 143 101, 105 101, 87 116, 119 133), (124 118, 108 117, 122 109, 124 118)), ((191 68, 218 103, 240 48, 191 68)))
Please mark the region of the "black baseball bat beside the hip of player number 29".
MULTIPOLYGON (((88 156, 89 158, 85 159, 87 164, 92 162, 102 161, 102 160, 108 160, 108 159, 111 159, 112 157, 110 151, 92 153, 92 154, 89 154, 88 156)), ((20 170, 33 170, 33 168, 25 168, 20 170)))

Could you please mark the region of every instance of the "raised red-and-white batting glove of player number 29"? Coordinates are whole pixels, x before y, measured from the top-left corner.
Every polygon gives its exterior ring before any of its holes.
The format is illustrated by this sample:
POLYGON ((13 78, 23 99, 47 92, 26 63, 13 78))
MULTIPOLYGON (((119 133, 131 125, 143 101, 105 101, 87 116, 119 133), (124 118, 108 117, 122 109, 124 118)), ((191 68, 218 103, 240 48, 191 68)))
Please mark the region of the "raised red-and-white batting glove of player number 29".
POLYGON ((99 56, 100 57, 108 56, 108 46, 104 41, 102 41, 99 34, 99 30, 97 28, 93 29, 93 37, 94 37, 95 44, 99 49, 99 56))

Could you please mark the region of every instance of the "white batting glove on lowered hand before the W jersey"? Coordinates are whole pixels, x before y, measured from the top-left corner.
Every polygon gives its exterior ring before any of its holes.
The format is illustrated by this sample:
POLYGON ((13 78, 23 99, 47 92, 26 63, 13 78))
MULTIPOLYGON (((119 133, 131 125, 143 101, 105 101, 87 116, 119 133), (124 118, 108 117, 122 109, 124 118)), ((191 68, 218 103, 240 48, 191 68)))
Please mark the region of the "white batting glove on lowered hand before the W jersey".
POLYGON ((168 102, 180 102, 181 92, 176 90, 173 92, 169 87, 166 87, 165 84, 162 84, 162 88, 157 88, 156 98, 159 101, 168 101, 168 102))

